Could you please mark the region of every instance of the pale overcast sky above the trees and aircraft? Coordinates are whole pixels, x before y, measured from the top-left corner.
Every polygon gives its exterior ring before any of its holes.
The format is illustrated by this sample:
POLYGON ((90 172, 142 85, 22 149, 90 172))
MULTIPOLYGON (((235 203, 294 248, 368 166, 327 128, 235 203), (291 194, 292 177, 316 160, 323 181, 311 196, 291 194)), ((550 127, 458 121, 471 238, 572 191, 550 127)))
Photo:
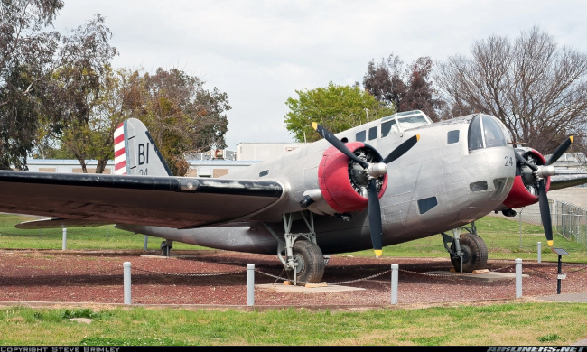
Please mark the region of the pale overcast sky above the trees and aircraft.
POLYGON ((228 149, 292 142, 296 90, 362 83, 368 62, 469 56, 489 35, 540 26, 587 52, 587 1, 576 0, 65 0, 55 28, 106 19, 116 68, 182 69, 228 94, 228 149))

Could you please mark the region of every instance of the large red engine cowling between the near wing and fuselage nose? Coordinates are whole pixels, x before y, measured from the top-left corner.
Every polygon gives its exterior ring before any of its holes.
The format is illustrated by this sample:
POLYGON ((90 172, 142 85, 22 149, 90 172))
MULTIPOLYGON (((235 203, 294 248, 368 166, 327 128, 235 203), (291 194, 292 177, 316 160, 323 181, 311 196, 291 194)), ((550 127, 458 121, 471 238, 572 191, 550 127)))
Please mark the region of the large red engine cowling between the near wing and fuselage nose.
MULTIPOLYGON (((352 142, 349 150, 366 162, 380 162, 383 158, 368 144, 352 142)), ((363 168, 335 147, 322 154, 318 167, 318 182, 322 197, 338 213, 367 208, 368 180, 363 168)), ((377 179, 378 197, 381 199, 387 188, 387 174, 377 179)))

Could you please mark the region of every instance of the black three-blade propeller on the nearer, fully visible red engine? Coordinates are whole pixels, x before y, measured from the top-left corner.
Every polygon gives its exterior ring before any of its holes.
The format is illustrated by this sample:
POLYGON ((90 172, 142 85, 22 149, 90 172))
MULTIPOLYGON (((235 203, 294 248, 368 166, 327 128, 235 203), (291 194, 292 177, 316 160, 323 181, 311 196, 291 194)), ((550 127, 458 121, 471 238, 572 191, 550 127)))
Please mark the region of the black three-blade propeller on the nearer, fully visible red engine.
POLYGON ((350 149, 340 141, 340 139, 334 136, 334 134, 331 134, 331 132, 323 126, 313 122, 312 127, 324 137, 325 140, 332 144, 332 146, 338 149, 340 153, 345 154, 353 162, 357 162, 366 173, 368 178, 368 221, 371 233, 371 243, 373 244, 375 255, 381 256, 383 253, 383 225, 377 192, 377 178, 387 173, 387 163, 393 162, 400 156, 404 155, 405 152, 409 151, 418 142, 420 134, 416 134, 405 140, 404 143, 399 144, 396 149, 389 153, 381 162, 369 163, 352 153, 350 149))

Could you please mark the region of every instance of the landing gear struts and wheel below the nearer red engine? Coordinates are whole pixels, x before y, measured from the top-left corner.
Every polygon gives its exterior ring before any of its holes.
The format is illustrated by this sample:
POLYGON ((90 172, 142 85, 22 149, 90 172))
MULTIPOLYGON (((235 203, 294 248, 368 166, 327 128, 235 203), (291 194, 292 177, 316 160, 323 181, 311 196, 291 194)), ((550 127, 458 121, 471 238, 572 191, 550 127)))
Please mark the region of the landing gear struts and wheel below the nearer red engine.
POLYGON ((284 264, 288 278, 293 280, 293 284, 320 282, 324 275, 324 266, 328 264, 330 256, 323 255, 316 243, 312 212, 284 214, 283 218, 285 242, 276 236, 271 227, 267 224, 265 226, 277 239, 277 256, 284 264), (291 229, 294 219, 303 219, 309 232, 293 234, 291 229))

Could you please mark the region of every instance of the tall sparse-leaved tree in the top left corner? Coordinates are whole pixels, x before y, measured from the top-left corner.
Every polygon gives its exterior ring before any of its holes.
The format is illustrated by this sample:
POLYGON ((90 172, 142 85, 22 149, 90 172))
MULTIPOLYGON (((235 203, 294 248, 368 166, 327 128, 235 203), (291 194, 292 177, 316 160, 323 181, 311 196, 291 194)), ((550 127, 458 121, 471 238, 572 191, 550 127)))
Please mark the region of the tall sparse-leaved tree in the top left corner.
POLYGON ((99 14, 67 35, 48 31, 62 7, 61 0, 0 2, 0 169, 26 168, 42 120, 52 133, 87 120, 86 96, 117 53, 99 14))

